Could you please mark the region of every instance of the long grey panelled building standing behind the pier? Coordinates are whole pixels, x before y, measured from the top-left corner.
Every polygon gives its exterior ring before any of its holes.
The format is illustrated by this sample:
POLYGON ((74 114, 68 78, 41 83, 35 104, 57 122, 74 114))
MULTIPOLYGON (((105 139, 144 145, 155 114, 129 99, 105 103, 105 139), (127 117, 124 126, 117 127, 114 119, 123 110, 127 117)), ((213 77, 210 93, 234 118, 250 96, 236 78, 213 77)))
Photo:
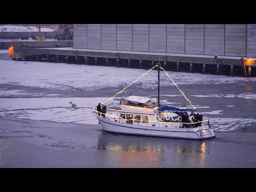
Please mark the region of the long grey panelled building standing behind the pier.
POLYGON ((74 24, 73 46, 256 57, 256 24, 74 24))

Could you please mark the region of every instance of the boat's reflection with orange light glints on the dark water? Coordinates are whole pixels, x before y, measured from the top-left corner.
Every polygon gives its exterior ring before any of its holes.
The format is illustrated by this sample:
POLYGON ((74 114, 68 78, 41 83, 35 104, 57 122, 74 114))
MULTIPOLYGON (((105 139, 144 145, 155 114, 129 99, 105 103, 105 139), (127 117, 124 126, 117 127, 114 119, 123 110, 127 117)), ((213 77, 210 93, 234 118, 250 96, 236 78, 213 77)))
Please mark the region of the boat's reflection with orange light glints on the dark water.
POLYGON ((206 167, 210 143, 103 131, 98 151, 108 167, 206 167))

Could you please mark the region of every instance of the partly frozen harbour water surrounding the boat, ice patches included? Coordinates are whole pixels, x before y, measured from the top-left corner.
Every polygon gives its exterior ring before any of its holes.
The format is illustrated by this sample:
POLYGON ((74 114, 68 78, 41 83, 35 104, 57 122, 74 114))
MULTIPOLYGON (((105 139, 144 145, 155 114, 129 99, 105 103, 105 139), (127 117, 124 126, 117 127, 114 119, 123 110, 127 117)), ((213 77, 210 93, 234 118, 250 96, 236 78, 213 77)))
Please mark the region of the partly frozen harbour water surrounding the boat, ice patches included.
MULTIPOLYGON (((256 167, 256 78, 167 71, 210 119, 216 138, 139 137, 102 131, 91 109, 146 70, 5 56, 0 53, 0 167, 256 167)), ((156 74, 107 107, 130 94, 157 97, 156 74)), ((161 79, 163 104, 190 107, 170 79, 161 79)))

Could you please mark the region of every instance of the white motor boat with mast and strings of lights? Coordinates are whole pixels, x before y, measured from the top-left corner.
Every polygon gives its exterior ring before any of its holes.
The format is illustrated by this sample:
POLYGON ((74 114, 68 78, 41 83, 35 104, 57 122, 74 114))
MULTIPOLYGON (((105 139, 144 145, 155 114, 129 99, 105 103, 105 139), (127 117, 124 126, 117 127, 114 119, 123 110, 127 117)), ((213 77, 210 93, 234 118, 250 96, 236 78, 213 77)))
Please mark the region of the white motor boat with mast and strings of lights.
MULTIPOLYGON (((95 116, 97 116, 102 129, 107 132, 141 135, 148 137, 163 137, 163 138, 178 138, 178 139, 195 139, 203 140, 209 138, 215 138, 214 132, 210 129, 210 121, 201 118, 195 118, 193 115, 196 107, 191 104, 185 94, 174 83, 172 78, 166 73, 160 63, 157 63, 150 70, 158 68, 158 99, 150 97, 140 97, 137 95, 130 95, 125 98, 121 98, 119 109, 107 109, 107 112, 102 115, 97 111, 97 108, 93 108, 95 116), (172 80, 175 86, 183 94, 186 100, 189 101, 193 108, 181 108, 173 106, 161 106, 160 105, 160 69, 164 70, 167 76, 172 80), (189 115, 189 121, 182 123, 182 115, 187 113, 189 115), (104 116, 105 115, 105 116, 104 116), (105 117, 105 118, 104 118, 105 117)), ((122 91, 109 98, 106 102, 113 99, 119 93, 122 93, 127 87, 137 82, 142 76, 133 81, 130 85, 126 86, 122 91)), ((199 115, 199 114, 197 114, 199 115)))

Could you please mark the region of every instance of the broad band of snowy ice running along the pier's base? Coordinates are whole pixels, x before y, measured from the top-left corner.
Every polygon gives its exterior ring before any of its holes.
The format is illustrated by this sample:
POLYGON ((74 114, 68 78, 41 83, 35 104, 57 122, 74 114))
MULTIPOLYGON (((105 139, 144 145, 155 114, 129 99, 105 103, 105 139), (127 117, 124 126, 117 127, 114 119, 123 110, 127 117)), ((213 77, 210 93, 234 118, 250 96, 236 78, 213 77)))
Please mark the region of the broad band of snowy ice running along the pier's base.
MULTIPOLYGON (((63 90, 83 89, 97 90, 106 87, 125 87, 135 79, 146 73, 145 69, 131 69, 122 67, 75 65, 68 63, 25 62, 13 60, 0 61, 0 79, 2 84, 20 84, 25 86, 57 88, 63 90), (109 78, 111 77, 111 78, 109 78), (124 83, 125 82, 125 83, 124 83)), ((179 85, 195 84, 243 84, 248 81, 256 82, 256 78, 230 77, 221 75, 167 72, 173 81, 179 85)), ((144 89, 155 89, 152 82, 157 81, 157 71, 151 70, 146 76, 139 79, 132 86, 144 89), (149 81, 150 79, 150 81, 149 81), (151 83, 149 83, 151 82, 151 83)), ((166 76, 161 76, 161 86, 174 84, 166 76)), ((181 88, 182 89, 182 88, 181 88)), ((196 95, 199 97, 200 95, 196 95)), ((228 95, 226 95, 228 96, 228 95)), ((206 95, 206 97, 212 97, 206 95)), ((214 96, 214 97, 217 97, 214 96)), ((222 97, 222 95, 220 95, 222 97)), ((230 95, 230 97, 233 97, 230 95)), ((242 97, 242 95, 241 95, 242 97)))

